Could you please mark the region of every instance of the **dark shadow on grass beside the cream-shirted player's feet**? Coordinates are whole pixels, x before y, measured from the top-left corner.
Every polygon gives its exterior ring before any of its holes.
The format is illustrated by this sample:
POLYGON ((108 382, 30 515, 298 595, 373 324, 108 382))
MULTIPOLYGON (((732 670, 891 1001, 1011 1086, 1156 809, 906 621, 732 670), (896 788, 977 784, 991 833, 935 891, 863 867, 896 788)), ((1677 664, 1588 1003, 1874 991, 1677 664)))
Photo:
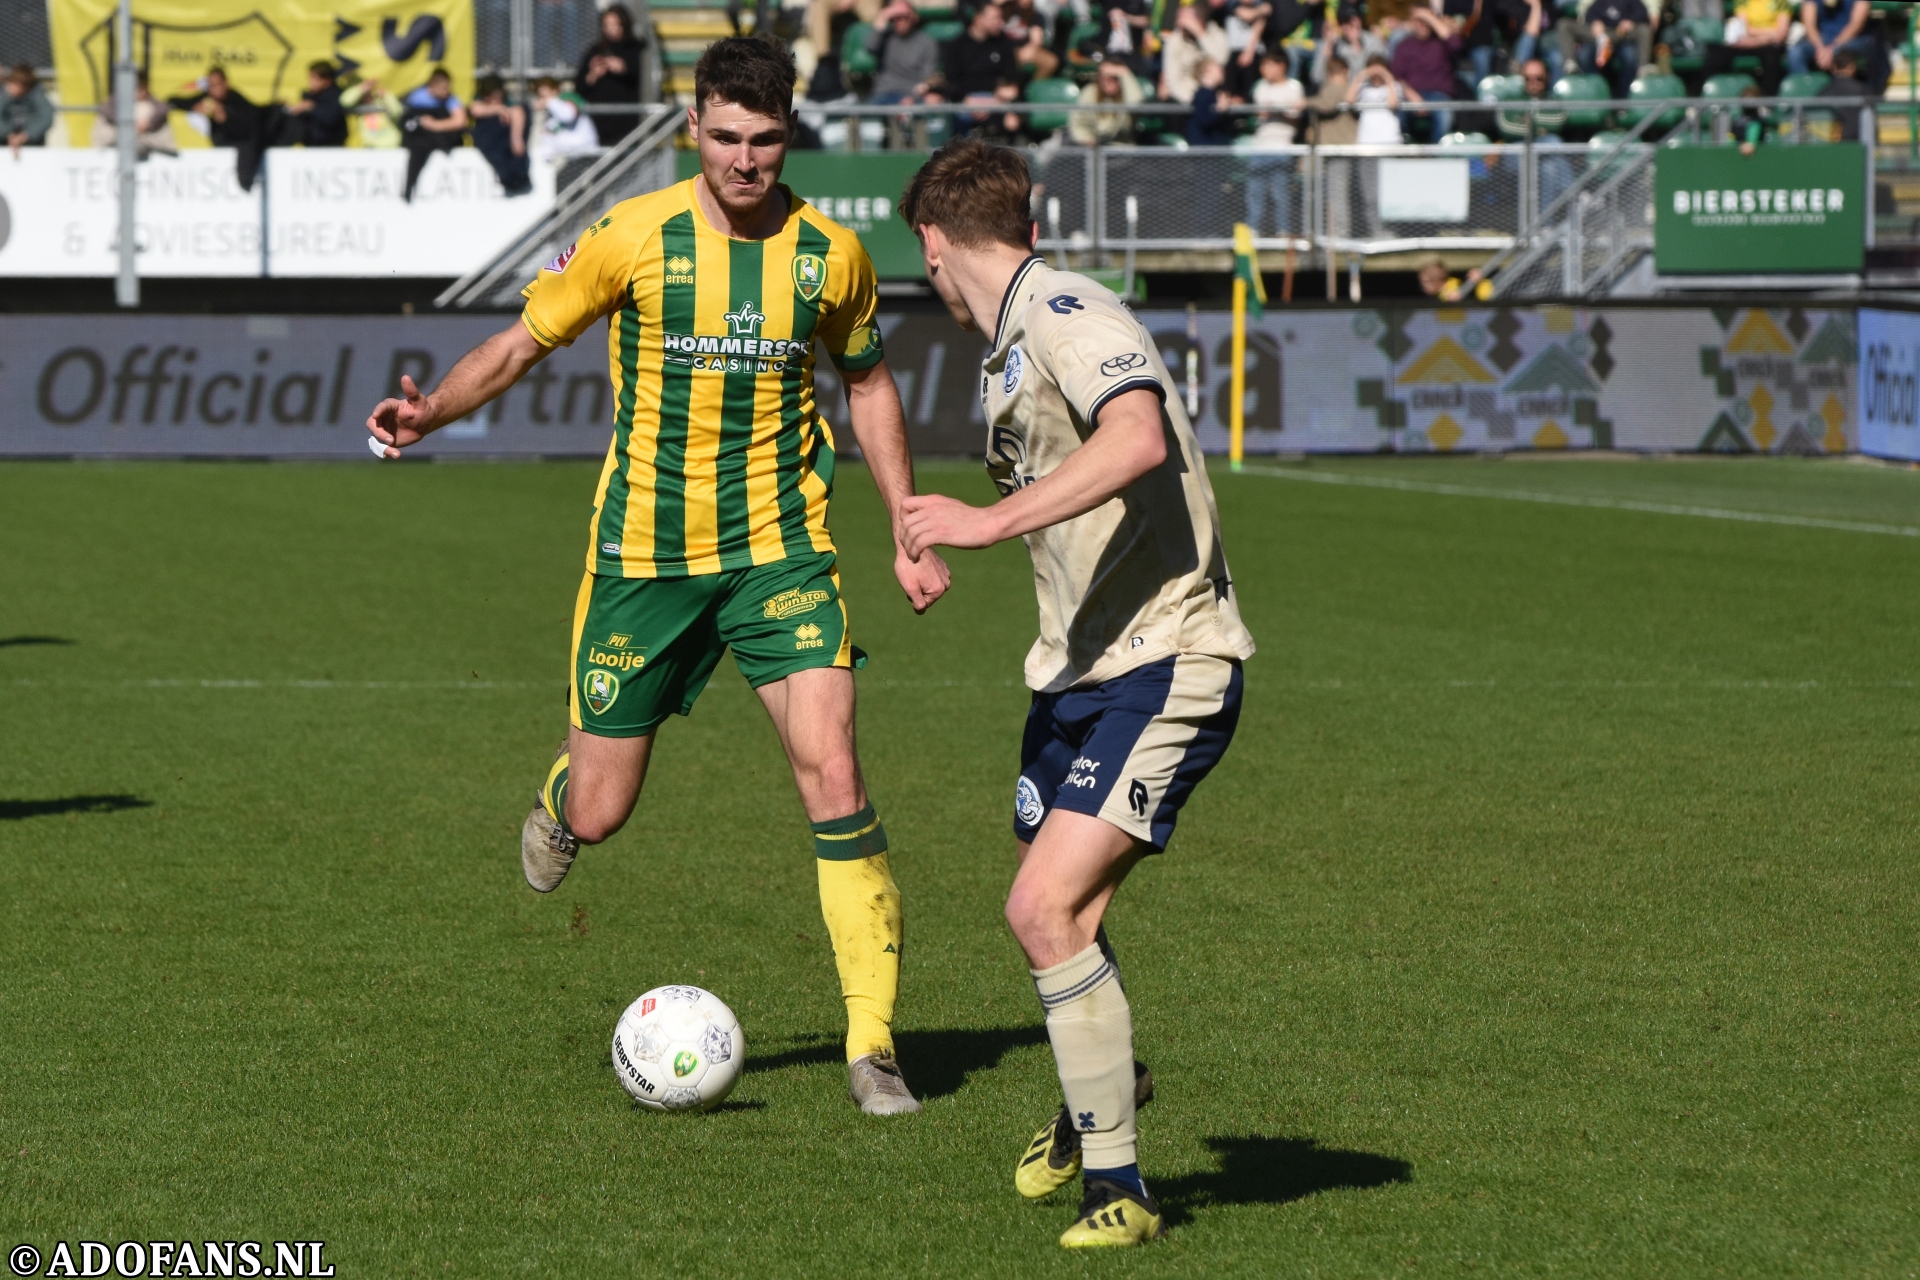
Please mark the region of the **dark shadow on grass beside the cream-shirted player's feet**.
POLYGON ((1219 1169, 1154 1178, 1167 1224, 1221 1205, 1286 1205, 1321 1192, 1365 1192, 1411 1182, 1413 1165, 1373 1151, 1323 1148, 1313 1138, 1208 1138, 1219 1169))

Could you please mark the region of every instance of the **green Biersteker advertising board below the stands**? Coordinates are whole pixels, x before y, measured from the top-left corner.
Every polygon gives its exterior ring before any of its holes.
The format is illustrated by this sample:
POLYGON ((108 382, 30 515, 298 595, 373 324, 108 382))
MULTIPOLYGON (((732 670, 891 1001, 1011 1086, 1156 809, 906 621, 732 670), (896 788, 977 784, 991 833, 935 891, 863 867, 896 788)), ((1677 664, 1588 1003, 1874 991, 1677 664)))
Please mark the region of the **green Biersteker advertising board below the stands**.
POLYGON ((1653 267, 1661 274, 1859 271, 1866 261, 1866 150, 1661 148, 1653 159, 1653 267))

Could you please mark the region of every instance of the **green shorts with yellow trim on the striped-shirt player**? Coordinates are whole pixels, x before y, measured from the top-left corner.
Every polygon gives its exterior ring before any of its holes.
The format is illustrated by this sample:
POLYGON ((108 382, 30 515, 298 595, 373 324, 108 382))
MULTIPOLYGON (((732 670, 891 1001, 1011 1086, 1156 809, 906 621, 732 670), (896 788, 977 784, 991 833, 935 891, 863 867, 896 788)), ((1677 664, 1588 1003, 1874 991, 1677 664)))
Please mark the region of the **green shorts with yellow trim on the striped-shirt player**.
POLYGON ((755 689, 818 666, 866 666, 847 639, 833 560, 816 551, 699 578, 588 574, 574 604, 574 727, 653 733, 693 710, 728 649, 755 689))

